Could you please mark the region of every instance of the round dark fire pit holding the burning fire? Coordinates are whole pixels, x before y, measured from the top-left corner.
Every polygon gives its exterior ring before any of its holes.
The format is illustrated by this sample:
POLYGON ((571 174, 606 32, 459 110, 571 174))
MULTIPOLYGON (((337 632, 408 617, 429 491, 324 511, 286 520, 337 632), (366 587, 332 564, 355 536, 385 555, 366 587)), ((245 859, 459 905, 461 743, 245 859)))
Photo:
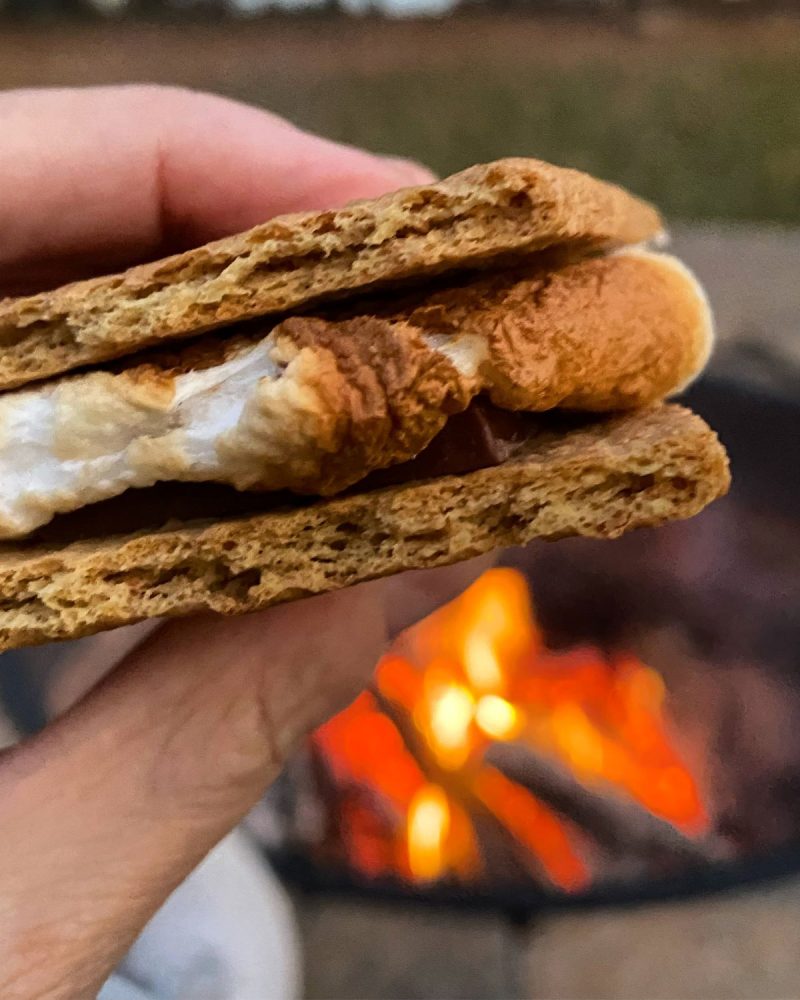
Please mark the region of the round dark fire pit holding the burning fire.
POLYGON ((261 816, 288 877, 532 911, 800 868, 800 413, 690 402, 731 495, 509 553, 403 636, 261 816))

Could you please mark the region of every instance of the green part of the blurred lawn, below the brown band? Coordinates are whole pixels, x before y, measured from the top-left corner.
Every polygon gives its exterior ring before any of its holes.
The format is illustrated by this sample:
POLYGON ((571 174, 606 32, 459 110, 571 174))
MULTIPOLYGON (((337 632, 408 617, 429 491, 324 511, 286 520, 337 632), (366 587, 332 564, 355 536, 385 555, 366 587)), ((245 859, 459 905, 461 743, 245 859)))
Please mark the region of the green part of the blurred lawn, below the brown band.
POLYGON ((540 156, 619 181, 683 218, 800 224, 800 58, 347 73, 269 104, 338 139, 448 172, 540 156))

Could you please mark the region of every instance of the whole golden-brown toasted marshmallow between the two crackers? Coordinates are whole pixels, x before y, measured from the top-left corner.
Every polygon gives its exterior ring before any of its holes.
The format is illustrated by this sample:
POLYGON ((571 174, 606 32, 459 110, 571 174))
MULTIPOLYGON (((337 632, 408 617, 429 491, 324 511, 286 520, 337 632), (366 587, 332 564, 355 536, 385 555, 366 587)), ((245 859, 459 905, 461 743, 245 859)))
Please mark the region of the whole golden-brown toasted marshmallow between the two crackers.
POLYGON ((479 392, 509 409, 625 409, 705 362, 708 304, 628 251, 490 275, 405 315, 294 318, 215 364, 141 365, 0 396, 0 538, 162 481, 326 495, 418 454, 479 392))

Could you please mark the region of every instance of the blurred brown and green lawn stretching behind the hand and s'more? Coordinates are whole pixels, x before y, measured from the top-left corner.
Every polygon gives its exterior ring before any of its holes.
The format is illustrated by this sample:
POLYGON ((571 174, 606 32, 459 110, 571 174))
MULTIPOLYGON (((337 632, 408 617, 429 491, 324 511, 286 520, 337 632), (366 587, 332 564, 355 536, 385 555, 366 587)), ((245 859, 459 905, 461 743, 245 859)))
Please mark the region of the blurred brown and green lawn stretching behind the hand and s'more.
POLYGON ((653 17, 0 28, 0 86, 188 84, 441 173, 541 156, 672 217, 800 225, 800 19, 653 17))

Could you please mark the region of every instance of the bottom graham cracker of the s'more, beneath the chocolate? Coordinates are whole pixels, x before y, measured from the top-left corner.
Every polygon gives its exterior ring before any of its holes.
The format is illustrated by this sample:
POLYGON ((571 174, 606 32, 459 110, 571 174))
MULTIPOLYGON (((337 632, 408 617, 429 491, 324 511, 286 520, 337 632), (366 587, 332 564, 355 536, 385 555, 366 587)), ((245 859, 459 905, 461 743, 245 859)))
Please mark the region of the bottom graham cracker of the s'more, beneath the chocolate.
POLYGON ((566 535, 614 538, 722 495, 725 451, 674 405, 543 429, 495 468, 128 536, 0 548, 0 649, 240 614, 566 535))

